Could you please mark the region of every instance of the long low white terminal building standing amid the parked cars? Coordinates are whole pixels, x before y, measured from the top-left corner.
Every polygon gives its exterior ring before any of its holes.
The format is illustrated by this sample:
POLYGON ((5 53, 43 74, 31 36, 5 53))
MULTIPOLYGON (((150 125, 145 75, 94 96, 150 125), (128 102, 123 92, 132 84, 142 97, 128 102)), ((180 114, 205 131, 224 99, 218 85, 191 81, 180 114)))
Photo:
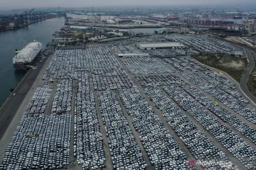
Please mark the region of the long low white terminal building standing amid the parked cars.
POLYGON ((138 43, 137 47, 142 50, 158 50, 158 49, 175 49, 175 48, 184 48, 185 45, 181 42, 143 42, 138 43))

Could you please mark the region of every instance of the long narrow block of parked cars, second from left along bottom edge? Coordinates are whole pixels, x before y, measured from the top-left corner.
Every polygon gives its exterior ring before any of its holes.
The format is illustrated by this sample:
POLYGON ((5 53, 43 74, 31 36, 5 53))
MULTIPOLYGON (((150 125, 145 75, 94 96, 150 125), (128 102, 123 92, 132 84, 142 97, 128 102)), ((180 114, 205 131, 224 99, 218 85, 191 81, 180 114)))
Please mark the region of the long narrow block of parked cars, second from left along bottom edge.
POLYGON ((96 111, 94 88, 87 74, 81 73, 75 96, 74 156, 82 169, 102 169, 106 157, 96 111))

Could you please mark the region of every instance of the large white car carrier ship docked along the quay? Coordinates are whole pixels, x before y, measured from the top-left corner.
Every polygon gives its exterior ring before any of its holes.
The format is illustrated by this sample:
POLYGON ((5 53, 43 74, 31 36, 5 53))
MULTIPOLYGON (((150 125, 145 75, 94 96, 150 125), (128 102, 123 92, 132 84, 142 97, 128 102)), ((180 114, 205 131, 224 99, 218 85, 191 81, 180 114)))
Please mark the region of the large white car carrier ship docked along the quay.
POLYGON ((13 59, 14 68, 16 69, 28 69, 31 66, 42 50, 42 43, 33 41, 28 43, 22 50, 16 51, 16 55, 13 59))

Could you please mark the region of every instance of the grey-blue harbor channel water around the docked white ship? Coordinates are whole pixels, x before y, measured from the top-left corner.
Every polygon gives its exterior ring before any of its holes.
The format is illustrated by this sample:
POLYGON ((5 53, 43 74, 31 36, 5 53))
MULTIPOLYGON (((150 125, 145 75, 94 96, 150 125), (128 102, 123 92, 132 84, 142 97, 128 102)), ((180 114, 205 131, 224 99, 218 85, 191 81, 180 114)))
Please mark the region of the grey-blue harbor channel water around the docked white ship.
POLYGON ((38 40, 43 48, 53 39, 53 33, 64 26, 64 18, 52 18, 30 26, 0 33, 0 106, 10 95, 26 72, 16 71, 12 59, 15 50, 21 50, 28 42, 38 40))

